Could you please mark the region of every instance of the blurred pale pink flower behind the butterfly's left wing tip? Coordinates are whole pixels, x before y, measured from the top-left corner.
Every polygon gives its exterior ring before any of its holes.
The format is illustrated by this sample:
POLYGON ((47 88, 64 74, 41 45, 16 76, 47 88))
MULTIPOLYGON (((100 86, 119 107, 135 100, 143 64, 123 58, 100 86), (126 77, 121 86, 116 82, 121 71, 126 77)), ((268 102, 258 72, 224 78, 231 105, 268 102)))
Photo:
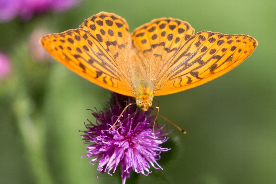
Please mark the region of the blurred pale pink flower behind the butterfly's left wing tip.
POLYGON ((50 31, 43 28, 35 28, 29 38, 29 49, 32 58, 38 62, 50 62, 52 56, 39 43, 41 37, 49 34, 50 31))

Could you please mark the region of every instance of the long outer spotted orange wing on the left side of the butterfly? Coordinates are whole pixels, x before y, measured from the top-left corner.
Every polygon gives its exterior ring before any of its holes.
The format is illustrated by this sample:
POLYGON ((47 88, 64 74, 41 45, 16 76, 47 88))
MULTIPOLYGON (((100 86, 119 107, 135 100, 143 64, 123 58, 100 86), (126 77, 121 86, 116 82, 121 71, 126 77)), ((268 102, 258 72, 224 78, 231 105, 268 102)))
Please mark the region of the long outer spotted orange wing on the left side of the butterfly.
POLYGON ((133 96, 114 58, 99 40, 83 29, 71 29, 41 38, 43 47, 70 70, 111 91, 133 96))

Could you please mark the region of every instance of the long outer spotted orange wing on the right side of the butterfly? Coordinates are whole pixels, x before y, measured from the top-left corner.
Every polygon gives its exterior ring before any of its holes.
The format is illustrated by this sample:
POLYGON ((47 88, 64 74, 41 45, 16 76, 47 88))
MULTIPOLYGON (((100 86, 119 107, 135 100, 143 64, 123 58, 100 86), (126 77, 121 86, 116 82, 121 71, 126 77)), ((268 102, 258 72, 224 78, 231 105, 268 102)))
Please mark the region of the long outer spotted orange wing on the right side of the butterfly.
POLYGON ((155 95, 177 93, 211 81, 243 62, 257 45, 248 35, 198 32, 168 62, 155 95))

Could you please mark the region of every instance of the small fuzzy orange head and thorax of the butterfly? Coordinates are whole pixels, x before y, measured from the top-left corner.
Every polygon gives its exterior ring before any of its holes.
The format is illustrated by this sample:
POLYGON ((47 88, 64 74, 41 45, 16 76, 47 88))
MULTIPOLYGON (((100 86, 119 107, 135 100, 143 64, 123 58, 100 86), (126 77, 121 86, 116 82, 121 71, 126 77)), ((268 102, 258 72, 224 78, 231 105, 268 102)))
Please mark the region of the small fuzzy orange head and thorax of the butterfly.
POLYGON ((137 107, 141 108, 142 111, 149 110, 152 106, 153 97, 152 88, 144 81, 139 82, 135 96, 137 107))

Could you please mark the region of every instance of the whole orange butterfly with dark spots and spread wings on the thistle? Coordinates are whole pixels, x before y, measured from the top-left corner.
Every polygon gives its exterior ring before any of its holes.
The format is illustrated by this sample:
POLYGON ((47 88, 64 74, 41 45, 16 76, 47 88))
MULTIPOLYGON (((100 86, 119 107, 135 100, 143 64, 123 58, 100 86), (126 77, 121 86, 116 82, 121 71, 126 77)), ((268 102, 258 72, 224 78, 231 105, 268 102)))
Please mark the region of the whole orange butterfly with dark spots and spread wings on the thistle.
POLYGON ((137 107, 147 111, 154 96, 184 91, 232 70, 258 42, 241 34, 194 34, 188 22, 172 18, 154 19, 130 34, 125 19, 100 12, 78 29, 42 37, 41 44, 70 70, 135 97, 137 107))

